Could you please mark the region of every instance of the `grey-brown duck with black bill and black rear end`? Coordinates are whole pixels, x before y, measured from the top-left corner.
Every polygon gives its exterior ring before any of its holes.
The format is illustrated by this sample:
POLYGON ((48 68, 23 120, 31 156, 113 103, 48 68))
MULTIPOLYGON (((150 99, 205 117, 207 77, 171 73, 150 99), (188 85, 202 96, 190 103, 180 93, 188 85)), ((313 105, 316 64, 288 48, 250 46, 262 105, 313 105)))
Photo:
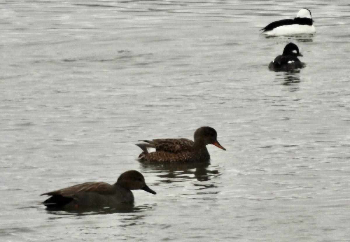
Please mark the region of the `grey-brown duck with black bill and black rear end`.
POLYGON ((133 205, 131 190, 141 189, 156 194, 145 183, 144 176, 135 170, 122 173, 113 185, 105 182, 85 182, 41 195, 51 197, 42 202, 48 208, 118 207, 133 205))

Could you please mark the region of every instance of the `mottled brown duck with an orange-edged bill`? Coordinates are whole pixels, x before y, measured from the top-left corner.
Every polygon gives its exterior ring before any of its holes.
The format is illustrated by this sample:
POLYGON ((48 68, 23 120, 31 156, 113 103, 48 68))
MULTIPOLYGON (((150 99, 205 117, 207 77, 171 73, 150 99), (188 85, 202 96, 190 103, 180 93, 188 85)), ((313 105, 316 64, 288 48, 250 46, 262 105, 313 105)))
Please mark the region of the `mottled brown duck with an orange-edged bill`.
POLYGON ((187 138, 158 138, 154 140, 142 140, 146 143, 136 144, 142 149, 139 155, 141 162, 163 163, 194 163, 207 162, 210 155, 207 144, 226 150, 217 141, 217 132, 211 127, 200 127, 194 133, 194 141, 187 138), (148 152, 147 148, 155 148, 154 152, 148 152))

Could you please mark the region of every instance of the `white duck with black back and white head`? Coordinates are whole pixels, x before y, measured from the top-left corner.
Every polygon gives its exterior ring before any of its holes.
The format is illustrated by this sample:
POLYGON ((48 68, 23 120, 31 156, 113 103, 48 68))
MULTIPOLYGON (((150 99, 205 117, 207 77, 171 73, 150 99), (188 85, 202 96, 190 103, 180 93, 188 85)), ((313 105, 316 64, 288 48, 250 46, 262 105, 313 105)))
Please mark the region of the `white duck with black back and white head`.
POLYGON ((301 9, 294 19, 283 19, 268 24, 260 30, 265 35, 297 35, 313 34, 316 32, 311 18, 311 11, 307 8, 301 9))

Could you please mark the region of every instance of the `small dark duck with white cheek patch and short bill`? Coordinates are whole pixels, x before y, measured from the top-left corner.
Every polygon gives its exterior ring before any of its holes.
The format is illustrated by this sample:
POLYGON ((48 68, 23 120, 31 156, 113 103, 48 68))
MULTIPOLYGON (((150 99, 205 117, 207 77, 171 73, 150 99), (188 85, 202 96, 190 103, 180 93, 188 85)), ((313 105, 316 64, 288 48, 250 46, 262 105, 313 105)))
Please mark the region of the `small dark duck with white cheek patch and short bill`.
POLYGON ((302 63, 298 56, 303 56, 299 52, 299 48, 296 44, 288 43, 283 49, 282 55, 277 56, 270 64, 268 69, 272 71, 292 71, 298 68, 302 68, 302 63))

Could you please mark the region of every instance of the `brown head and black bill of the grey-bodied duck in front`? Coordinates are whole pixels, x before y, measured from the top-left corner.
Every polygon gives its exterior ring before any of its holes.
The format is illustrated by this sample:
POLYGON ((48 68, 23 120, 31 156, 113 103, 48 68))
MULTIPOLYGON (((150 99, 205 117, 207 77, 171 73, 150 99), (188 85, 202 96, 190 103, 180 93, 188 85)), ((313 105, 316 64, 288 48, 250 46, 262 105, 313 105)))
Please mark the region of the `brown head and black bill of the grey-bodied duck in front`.
POLYGON ((155 191, 146 185, 144 176, 135 170, 126 171, 121 174, 117 180, 117 184, 128 190, 142 189, 146 192, 156 194, 155 191))

